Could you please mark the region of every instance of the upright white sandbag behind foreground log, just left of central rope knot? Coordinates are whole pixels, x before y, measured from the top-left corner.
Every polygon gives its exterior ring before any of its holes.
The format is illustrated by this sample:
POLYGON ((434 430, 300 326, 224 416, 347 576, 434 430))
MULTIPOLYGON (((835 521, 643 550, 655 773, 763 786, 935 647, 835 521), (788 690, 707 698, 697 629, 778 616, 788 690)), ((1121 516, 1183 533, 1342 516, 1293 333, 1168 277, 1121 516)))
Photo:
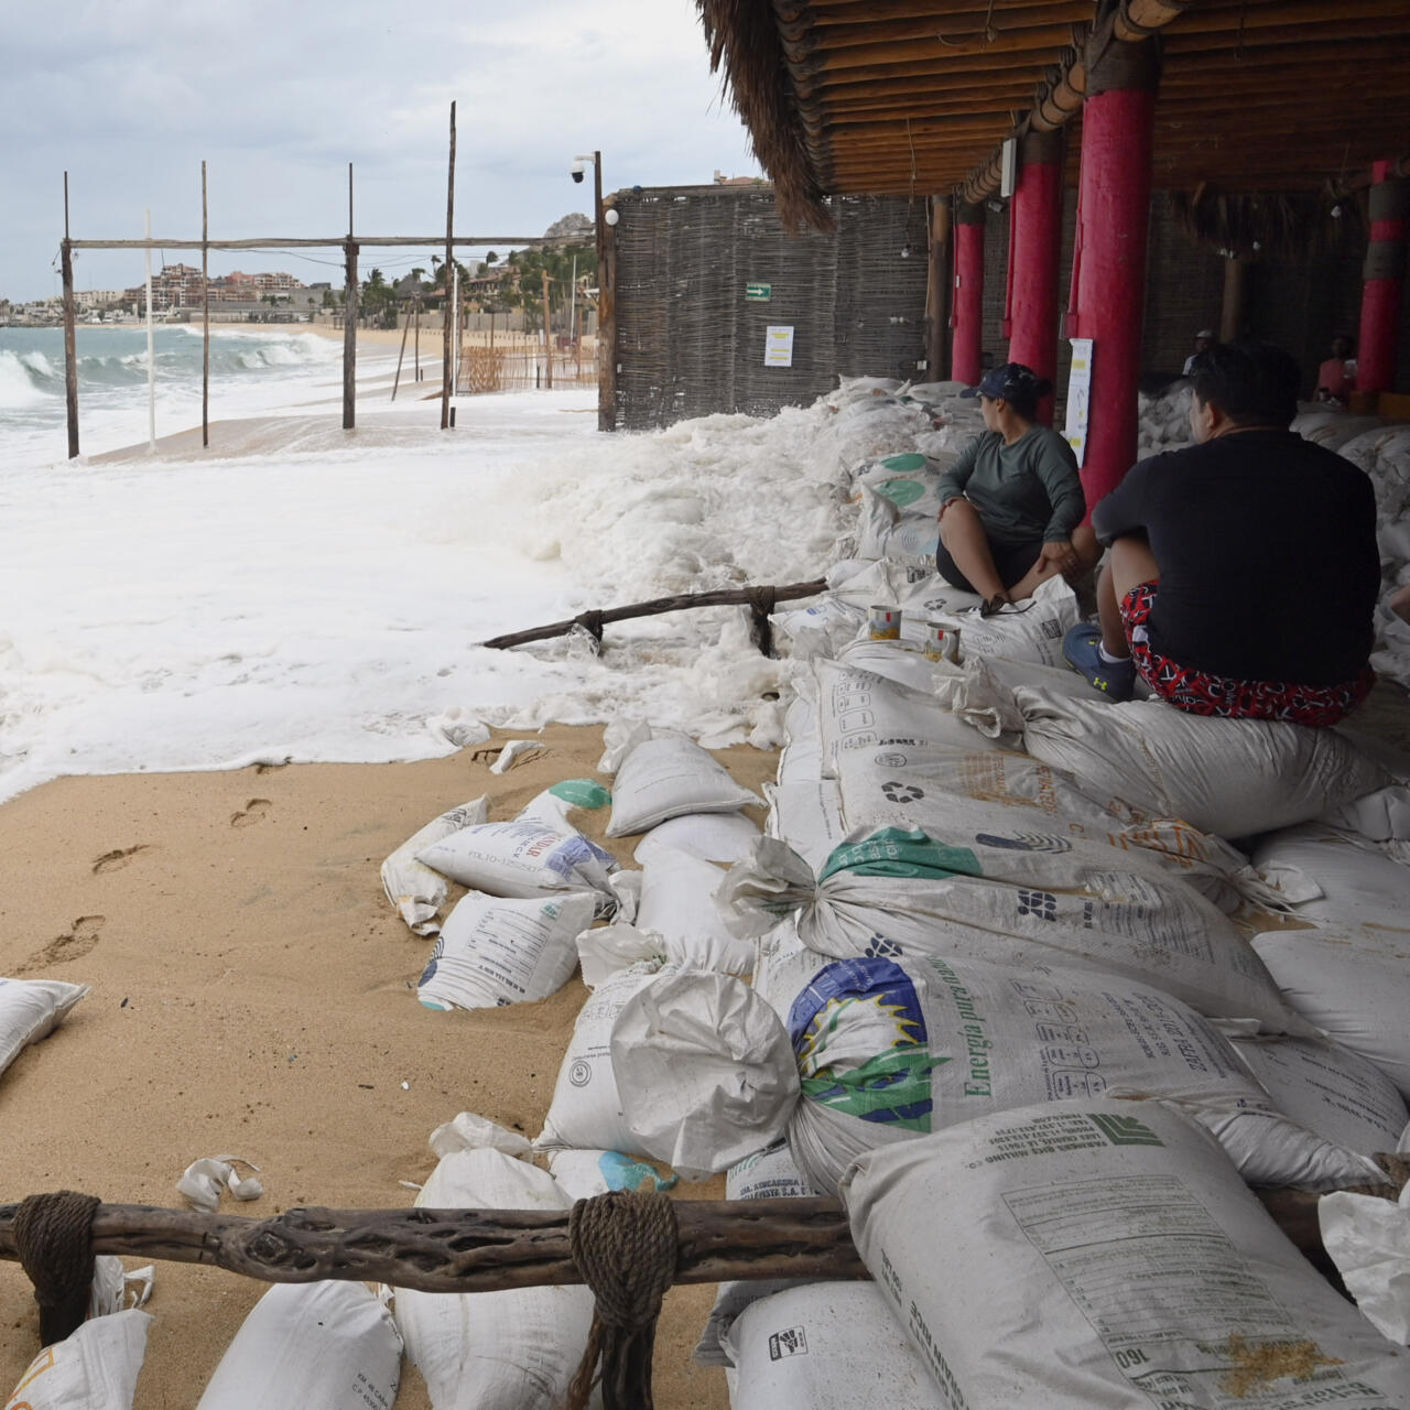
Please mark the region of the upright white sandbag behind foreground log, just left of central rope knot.
MULTIPOLYGON (((565 1210, 572 1200, 547 1170, 498 1151, 458 1151, 416 1196, 427 1210, 565 1210)), ((502 1293, 396 1290, 406 1355, 433 1410, 557 1410, 592 1325, 587 1287, 502 1293)))

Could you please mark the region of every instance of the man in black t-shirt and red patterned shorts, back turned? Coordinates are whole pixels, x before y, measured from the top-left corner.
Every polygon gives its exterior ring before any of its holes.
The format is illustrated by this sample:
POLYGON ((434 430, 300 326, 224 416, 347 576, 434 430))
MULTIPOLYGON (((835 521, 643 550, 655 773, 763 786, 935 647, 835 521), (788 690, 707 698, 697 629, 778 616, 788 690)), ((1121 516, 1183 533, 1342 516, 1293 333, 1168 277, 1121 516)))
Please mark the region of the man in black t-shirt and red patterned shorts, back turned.
POLYGON ((1074 626, 1063 656, 1112 699, 1139 674, 1194 715, 1334 725, 1371 691, 1375 494, 1287 430, 1299 382, 1282 348, 1211 347, 1196 444, 1141 461, 1093 510, 1111 546, 1100 626, 1074 626))

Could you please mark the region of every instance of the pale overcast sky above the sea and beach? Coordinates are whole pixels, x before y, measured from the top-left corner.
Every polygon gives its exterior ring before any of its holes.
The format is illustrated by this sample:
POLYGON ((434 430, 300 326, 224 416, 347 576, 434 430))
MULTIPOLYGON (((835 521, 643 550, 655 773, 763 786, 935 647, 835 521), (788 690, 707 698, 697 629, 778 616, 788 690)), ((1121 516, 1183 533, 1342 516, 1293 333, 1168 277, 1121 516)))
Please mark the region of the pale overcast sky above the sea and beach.
MULTIPOLYGON (((694 0, 16 3, 4 54, 0 298, 17 300, 59 292, 65 171, 75 238, 140 237, 145 207, 154 235, 199 238, 203 158, 212 238, 343 234, 348 162, 358 233, 444 233, 453 100, 457 234, 533 235, 591 213, 591 168, 574 185, 568 165, 594 148, 606 190, 759 169, 694 0)), ((336 250, 312 254, 331 265, 216 252, 210 269, 341 281, 336 250)), ((429 254, 367 251, 362 271, 429 254)), ((135 285, 142 255, 85 251, 75 278, 135 285)))

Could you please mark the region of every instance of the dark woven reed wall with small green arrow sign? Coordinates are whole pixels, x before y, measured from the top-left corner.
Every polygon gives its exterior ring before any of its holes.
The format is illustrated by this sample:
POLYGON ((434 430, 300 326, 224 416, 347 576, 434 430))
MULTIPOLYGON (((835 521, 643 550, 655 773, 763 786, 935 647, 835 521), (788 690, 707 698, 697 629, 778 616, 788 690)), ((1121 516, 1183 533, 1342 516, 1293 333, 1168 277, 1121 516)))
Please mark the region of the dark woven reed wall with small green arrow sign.
POLYGON ((619 427, 771 416, 839 375, 924 376, 924 200, 836 197, 836 230, 801 235, 784 234, 767 188, 625 190, 615 204, 619 427), (746 283, 770 285, 768 302, 746 302, 746 283), (794 330, 790 368, 764 367, 770 324, 794 330))

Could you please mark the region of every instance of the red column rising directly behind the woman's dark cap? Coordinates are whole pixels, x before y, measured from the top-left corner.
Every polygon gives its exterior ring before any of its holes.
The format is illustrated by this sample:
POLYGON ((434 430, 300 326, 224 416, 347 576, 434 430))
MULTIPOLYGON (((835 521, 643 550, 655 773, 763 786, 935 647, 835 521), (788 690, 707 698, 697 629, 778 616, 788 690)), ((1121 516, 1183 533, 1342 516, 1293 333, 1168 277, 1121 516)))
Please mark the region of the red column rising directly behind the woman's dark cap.
MULTIPOLYGON (((1049 381, 1058 375, 1058 254, 1062 243, 1062 134, 1028 133, 1018 144, 1010 262, 1008 361, 1049 381)), ((1053 399, 1038 403, 1053 423, 1053 399)))

